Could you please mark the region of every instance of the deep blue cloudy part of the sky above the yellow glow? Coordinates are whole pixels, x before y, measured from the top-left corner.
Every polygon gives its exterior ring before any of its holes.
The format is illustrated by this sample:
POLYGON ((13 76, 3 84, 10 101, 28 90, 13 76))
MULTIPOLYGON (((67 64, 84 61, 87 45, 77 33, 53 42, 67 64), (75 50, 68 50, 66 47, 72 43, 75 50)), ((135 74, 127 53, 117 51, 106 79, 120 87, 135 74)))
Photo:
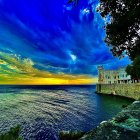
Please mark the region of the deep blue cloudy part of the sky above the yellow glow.
POLYGON ((97 74, 97 65, 114 69, 130 63, 114 58, 104 43, 98 1, 3 0, 0 2, 0 51, 29 58, 53 73, 97 74))

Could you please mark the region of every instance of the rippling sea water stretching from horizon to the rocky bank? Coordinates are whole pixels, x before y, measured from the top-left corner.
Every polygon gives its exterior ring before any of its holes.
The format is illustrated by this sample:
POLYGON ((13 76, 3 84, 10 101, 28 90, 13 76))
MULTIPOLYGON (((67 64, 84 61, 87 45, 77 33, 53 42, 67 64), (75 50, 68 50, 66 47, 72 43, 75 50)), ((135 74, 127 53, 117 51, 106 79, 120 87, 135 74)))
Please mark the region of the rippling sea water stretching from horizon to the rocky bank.
POLYGON ((21 125, 25 140, 58 140, 62 130, 89 131, 132 103, 92 86, 0 86, 0 133, 21 125))

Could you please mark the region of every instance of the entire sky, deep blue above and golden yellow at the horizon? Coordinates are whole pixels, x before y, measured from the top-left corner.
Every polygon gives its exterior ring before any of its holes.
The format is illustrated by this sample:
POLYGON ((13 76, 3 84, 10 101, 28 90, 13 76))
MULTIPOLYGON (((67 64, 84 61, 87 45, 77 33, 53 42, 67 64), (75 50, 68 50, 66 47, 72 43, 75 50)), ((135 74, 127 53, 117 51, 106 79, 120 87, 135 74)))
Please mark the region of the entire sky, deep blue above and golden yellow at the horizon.
POLYGON ((0 84, 94 84, 98 65, 128 65, 104 43, 98 4, 0 0, 0 84))

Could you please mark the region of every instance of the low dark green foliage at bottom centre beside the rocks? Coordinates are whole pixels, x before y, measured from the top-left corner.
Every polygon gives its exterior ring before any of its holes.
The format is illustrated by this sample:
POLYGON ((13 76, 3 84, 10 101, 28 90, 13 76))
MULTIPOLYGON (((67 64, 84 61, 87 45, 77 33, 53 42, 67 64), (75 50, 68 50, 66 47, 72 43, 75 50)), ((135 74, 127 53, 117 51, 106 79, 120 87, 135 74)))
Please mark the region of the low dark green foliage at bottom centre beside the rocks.
POLYGON ((78 140, 85 133, 80 131, 62 131, 59 134, 60 140, 78 140))

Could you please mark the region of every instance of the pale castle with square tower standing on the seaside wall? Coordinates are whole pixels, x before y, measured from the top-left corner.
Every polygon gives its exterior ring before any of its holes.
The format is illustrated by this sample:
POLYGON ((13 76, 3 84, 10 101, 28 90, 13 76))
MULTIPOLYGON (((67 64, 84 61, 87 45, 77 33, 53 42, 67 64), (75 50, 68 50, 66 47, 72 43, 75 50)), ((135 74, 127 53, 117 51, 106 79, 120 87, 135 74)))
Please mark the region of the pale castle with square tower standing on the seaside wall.
POLYGON ((122 84, 134 83, 131 76, 127 75, 125 68, 117 70, 105 70, 103 66, 98 66, 98 83, 100 84, 122 84))

